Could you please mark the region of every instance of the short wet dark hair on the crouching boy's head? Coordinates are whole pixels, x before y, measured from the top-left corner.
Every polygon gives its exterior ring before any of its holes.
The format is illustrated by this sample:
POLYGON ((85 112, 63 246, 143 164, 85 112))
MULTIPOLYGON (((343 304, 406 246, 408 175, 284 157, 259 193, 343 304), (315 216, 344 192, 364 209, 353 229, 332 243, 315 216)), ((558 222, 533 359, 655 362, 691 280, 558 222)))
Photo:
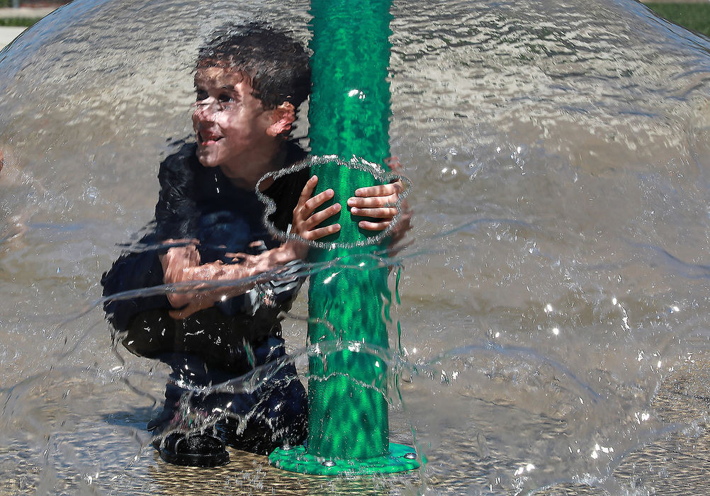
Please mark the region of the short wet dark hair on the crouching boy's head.
POLYGON ((197 69, 225 67, 249 77, 253 96, 267 109, 285 101, 298 107, 310 94, 308 54, 287 33, 261 23, 229 25, 200 48, 197 69))

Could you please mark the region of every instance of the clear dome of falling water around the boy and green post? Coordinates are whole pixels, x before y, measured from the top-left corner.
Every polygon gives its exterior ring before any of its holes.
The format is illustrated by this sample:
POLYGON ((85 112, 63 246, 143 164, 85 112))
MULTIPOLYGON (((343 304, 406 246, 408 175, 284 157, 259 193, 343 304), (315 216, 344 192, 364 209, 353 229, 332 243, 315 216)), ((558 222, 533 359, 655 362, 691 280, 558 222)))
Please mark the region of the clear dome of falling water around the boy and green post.
MULTIPOLYGON (((710 45, 631 1, 393 7, 391 143, 415 228, 391 436, 413 431, 424 470, 155 458, 143 429, 166 372, 114 353, 100 275, 190 136, 201 41, 253 18, 307 40, 307 9, 75 0, 0 53, 2 490, 702 492, 710 45)), ((305 326, 286 323, 299 356, 305 326)))

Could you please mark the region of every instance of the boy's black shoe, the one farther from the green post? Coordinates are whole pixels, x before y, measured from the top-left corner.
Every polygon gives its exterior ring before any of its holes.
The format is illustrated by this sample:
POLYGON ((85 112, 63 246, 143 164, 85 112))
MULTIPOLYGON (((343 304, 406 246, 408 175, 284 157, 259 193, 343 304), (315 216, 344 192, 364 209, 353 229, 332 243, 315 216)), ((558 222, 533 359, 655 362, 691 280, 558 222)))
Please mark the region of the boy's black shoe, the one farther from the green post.
POLYGON ((155 439, 153 446, 163 461, 173 465, 219 467, 229 463, 224 442, 210 434, 173 432, 164 439, 155 439))

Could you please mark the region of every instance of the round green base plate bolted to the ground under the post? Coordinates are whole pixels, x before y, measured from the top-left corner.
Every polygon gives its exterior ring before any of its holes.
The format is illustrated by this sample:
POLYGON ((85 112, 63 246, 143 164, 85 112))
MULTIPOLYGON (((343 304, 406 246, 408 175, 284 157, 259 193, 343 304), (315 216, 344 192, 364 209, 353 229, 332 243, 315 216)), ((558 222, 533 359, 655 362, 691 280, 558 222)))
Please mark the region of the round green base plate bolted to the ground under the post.
POLYGON ((305 446, 284 449, 276 448, 268 460, 271 465, 289 472, 314 475, 368 475, 376 473, 405 472, 427 463, 426 458, 417 460, 414 448, 390 443, 390 451, 384 456, 366 460, 340 460, 316 457, 306 452, 305 446))

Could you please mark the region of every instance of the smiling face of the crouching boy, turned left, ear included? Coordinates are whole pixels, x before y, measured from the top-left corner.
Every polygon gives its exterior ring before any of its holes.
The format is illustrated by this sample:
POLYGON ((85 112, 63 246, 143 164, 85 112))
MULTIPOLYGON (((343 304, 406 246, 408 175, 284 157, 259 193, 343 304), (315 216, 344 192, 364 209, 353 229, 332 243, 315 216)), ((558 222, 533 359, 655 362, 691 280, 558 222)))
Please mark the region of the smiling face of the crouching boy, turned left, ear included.
POLYGON ((278 143, 268 130, 273 111, 253 97, 241 73, 205 67, 195 74, 197 102, 192 126, 197 133, 197 159, 204 167, 222 167, 236 182, 251 182, 264 172, 264 161, 278 143), (261 167, 260 170, 255 168, 261 167))

